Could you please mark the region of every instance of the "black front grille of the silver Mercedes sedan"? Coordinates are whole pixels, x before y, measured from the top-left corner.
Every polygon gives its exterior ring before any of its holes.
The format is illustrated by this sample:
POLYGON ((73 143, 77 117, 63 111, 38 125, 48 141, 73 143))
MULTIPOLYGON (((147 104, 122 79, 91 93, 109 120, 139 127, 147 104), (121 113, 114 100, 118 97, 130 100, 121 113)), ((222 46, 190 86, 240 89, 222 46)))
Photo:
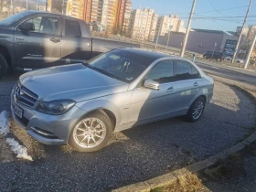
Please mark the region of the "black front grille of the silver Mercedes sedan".
POLYGON ((32 108, 35 105, 37 99, 37 94, 35 94, 32 91, 29 91, 23 85, 16 86, 15 100, 19 104, 26 106, 28 108, 32 108))

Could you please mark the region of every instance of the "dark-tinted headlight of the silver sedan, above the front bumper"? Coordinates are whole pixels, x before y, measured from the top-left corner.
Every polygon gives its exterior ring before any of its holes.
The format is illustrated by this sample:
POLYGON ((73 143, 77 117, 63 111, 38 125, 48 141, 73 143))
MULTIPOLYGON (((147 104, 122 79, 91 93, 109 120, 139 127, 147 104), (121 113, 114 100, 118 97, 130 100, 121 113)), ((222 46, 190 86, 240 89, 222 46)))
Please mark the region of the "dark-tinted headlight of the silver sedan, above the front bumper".
POLYGON ((41 102, 37 106, 37 112, 44 112, 47 114, 63 114, 68 112, 76 104, 75 101, 72 100, 56 100, 56 101, 48 101, 41 102))

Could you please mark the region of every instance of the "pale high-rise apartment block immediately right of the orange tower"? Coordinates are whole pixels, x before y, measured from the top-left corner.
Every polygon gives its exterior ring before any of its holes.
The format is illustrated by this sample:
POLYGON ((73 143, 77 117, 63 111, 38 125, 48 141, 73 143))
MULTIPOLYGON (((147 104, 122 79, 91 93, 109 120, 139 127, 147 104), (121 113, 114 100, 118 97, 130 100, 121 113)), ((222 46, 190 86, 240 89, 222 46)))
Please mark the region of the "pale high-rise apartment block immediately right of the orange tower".
POLYGON ((155 33, 156 20, 157 18, 153 9, 144 8, 143 10, 133 10, 130 27, 131 37, 140 40, 152 39, 152 34, 155 33))

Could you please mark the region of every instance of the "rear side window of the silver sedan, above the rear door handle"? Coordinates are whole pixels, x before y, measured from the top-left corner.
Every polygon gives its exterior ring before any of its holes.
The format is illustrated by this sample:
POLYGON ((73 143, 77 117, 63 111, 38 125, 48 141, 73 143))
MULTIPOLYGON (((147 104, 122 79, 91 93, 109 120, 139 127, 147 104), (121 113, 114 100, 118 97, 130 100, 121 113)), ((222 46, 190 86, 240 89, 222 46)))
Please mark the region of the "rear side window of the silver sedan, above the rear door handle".
POLYGON ((175 77, 177 80, 193 80, 200 79, 200 74, 197 69, 187 61, 176 60, 175 62, 175 77))

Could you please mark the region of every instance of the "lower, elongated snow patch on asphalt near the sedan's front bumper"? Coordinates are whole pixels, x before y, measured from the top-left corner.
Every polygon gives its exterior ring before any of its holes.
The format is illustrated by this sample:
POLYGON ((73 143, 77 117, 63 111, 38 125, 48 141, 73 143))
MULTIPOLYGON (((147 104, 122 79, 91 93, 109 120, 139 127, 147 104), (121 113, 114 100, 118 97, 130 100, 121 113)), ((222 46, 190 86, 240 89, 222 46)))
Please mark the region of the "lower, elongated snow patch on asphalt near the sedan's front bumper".
POLYGON ((11 145, 11 150, 16 154, 17 158, 33 161, 32 157, 27 155, 27 148, 25 146, 18 144, 13 138, 7 138, 6 142, 11 145))

